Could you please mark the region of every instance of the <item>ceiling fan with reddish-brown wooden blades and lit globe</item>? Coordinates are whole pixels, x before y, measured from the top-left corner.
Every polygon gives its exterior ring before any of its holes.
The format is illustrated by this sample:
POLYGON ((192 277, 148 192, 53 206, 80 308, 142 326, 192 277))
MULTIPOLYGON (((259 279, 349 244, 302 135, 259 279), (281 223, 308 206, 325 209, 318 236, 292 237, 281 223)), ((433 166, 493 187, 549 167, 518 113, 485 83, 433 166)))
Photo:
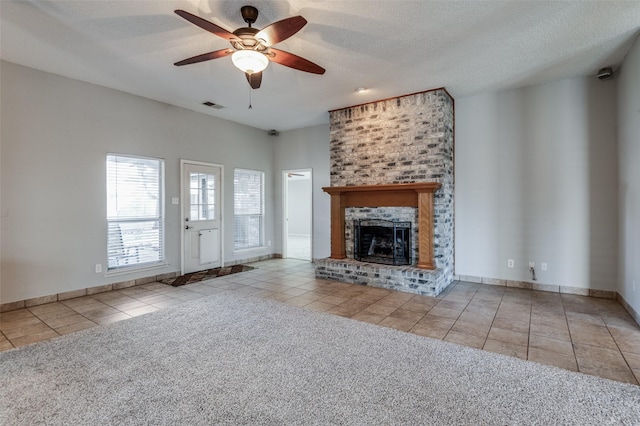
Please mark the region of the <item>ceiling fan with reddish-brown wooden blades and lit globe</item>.
POLYGON ((174 64, 176 66, 195 64, 231 55, 233 64, 245 73, 247 81, 253 89, 260 87, 262 71, 267 67, 269 61, 313 74, 324 74, 325 72, 324 68, 307 59, 272 47, 274 44, 288 39, 307 24, 307 20, 302 16, 286 18, 258 30, 251 27, 251 24, 258 18, 258 9, 253 6, 243 6, 240 13, 248 27, 229 32, 213 22, 184 10, 178 9, 175 12, 203 30, 229 41, 232 47, 184 59, 176 62, 174 64))

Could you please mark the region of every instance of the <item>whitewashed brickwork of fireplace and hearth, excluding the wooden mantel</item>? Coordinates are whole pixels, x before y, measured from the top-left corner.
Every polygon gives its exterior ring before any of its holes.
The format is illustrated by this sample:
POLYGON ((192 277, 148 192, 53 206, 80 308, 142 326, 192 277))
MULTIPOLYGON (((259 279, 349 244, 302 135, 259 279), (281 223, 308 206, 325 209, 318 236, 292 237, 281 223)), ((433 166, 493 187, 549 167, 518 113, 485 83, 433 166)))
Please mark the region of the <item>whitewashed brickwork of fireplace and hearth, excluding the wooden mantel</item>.
MULTIPOLYGON (((372 270, 365 276, 363 265, 354 263, 352 259, 353 243, 349 241, 353 235, 353 219, 362 217, 363 212, 350 208, 345 213, 348 259, 341 261, 343 266, 332 262, 332 259, 326 259, 326 263, 317 262, 316 275, 419 294, 439 294, 453 282, 454 274, 453 98, 444 88, 434 89, 330 111, 329 117, 331 187, 422 182, 441 184, 433 197, 432 238, 436 268, 432 271, 418 269, 416 272, 406 267, 385 270, 386 266, 378 265, 373 267, 377 272, 372 270), (400 275, 403 277, 399 278, 400 275)), ((417 217, 417 213, 412 214, 406 208, 399 210, 397 206, 367 208, 365 213, 369 218, 376 214, 380 218, 398 214, 400 217, 397 219, 409 218, 412 223, 417 217)), ((416 227, 416 239, 419 232, 416 227)), ((412 248, 412 253, 417 258, 417 245, 412 248)))

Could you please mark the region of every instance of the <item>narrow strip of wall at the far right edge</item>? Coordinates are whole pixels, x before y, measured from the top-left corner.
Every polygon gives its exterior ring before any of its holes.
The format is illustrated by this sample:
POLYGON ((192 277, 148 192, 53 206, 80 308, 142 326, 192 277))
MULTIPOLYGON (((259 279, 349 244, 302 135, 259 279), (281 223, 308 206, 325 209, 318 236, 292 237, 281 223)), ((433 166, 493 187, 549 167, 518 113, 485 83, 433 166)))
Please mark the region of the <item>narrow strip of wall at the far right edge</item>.
POLYGON ((618 76, 620 273, 618 292, 640 313, 640 38, 618 76))

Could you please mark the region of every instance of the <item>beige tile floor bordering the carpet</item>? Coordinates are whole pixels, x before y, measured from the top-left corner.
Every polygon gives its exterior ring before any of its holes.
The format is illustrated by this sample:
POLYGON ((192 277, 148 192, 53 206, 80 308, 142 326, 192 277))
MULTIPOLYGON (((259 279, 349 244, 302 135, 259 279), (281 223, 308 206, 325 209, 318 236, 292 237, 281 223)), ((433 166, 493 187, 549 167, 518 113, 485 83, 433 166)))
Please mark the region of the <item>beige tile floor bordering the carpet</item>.
POLYGON ((452 284, 438 298, 317 280, 283 259, 182 287, 161 283, 0 314, 0 350, 125 320, 220 291, 273 299, 568 370, 638 384, 640 327, 613 300, 452 284))

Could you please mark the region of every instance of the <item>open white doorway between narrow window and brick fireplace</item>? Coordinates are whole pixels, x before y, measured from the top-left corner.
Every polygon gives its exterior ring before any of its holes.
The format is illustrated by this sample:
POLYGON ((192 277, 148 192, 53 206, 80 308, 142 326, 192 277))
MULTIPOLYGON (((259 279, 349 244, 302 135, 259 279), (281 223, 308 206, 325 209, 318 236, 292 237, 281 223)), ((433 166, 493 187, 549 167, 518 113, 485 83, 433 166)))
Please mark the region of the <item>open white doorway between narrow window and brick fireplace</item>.
POLYGON ((312 259, 313 185, 311 169, 282 172, 282 257, 312 259))

